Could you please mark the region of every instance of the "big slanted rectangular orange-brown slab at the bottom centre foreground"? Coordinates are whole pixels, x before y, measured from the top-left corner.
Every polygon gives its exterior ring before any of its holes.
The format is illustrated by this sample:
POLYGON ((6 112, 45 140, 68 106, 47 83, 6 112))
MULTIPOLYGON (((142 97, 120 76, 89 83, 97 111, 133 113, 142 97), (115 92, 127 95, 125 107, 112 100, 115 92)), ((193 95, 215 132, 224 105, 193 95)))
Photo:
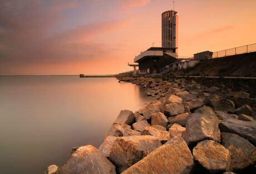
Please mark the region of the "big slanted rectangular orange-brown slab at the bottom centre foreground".
POLYGON ((188 146, 181 137, 175 137, 123 173, 191 173, 193 167, 188 146))

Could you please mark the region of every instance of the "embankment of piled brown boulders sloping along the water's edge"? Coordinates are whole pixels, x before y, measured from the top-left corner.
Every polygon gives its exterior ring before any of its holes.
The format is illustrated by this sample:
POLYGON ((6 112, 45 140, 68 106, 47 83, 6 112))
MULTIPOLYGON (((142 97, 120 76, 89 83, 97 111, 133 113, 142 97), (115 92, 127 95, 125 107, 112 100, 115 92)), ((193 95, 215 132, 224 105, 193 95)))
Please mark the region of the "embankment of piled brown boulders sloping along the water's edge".
POLYGON ((76 147, 47 173, 256 173, 256 100, 196 81, 120 76, 157 101, 122 110, 99 150, 76 147))

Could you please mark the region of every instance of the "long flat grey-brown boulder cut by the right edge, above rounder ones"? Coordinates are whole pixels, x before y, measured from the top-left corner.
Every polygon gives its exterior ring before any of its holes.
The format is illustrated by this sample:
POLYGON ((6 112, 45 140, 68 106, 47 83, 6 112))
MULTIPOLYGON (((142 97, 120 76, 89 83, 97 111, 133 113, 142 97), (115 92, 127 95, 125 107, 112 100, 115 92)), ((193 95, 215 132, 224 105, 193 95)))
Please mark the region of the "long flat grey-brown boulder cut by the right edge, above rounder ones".
POLYGON ((256 146, 256 122, 242 121, 233 118, 220 120, 219 129, 221 132, 229 132, 240 135, 256 146))

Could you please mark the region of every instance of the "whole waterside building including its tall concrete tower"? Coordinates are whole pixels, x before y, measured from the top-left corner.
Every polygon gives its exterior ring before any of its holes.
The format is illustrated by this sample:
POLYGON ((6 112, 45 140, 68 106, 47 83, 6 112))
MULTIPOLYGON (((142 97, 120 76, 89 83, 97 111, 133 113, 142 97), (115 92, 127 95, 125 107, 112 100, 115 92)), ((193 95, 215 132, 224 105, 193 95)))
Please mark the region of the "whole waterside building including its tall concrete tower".
MULTIPOLYGON (((178 61, 178 16, 175 11, 162 13, 162 47, 151 47, 134 59, 139 74, 158 74, 178 61)), ((130 65, 129 66, 133 66, 130 65)), ((134 74, 136 74, 134 65, 134 74)))

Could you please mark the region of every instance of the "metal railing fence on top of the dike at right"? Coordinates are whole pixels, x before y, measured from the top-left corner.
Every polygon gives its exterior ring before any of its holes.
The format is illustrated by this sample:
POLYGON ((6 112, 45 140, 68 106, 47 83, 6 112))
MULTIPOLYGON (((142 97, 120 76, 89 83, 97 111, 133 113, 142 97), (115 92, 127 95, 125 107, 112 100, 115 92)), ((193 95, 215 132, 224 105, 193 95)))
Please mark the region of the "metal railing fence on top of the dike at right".
POLYGON ((250 45, 244 45, 242 47, 225 49, 225 50, 221 50, 219 52, 214 52, 213 58, 221 58, 221 57, 226 57, 229 55, 237 55, 237 54, 252 53, 252 52, 256 52, 256 43, 250 44, 250 45))

